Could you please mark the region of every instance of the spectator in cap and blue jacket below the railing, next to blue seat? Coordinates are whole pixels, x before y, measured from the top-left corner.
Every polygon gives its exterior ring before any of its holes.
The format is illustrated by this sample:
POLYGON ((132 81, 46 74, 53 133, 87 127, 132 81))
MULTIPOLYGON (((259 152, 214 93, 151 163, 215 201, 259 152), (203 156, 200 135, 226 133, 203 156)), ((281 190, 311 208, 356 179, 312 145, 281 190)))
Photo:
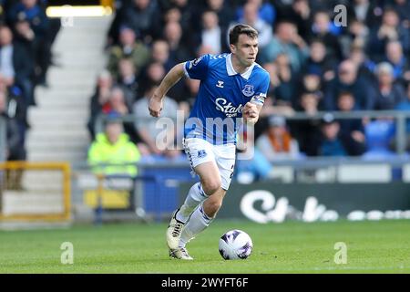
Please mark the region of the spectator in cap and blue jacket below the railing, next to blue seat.
POLYGON ((319 156, 347 156, 347 151, 340 139, 340 124, 332 114, 325 114, 322 120, 323 139, 319 146, 319 156))

